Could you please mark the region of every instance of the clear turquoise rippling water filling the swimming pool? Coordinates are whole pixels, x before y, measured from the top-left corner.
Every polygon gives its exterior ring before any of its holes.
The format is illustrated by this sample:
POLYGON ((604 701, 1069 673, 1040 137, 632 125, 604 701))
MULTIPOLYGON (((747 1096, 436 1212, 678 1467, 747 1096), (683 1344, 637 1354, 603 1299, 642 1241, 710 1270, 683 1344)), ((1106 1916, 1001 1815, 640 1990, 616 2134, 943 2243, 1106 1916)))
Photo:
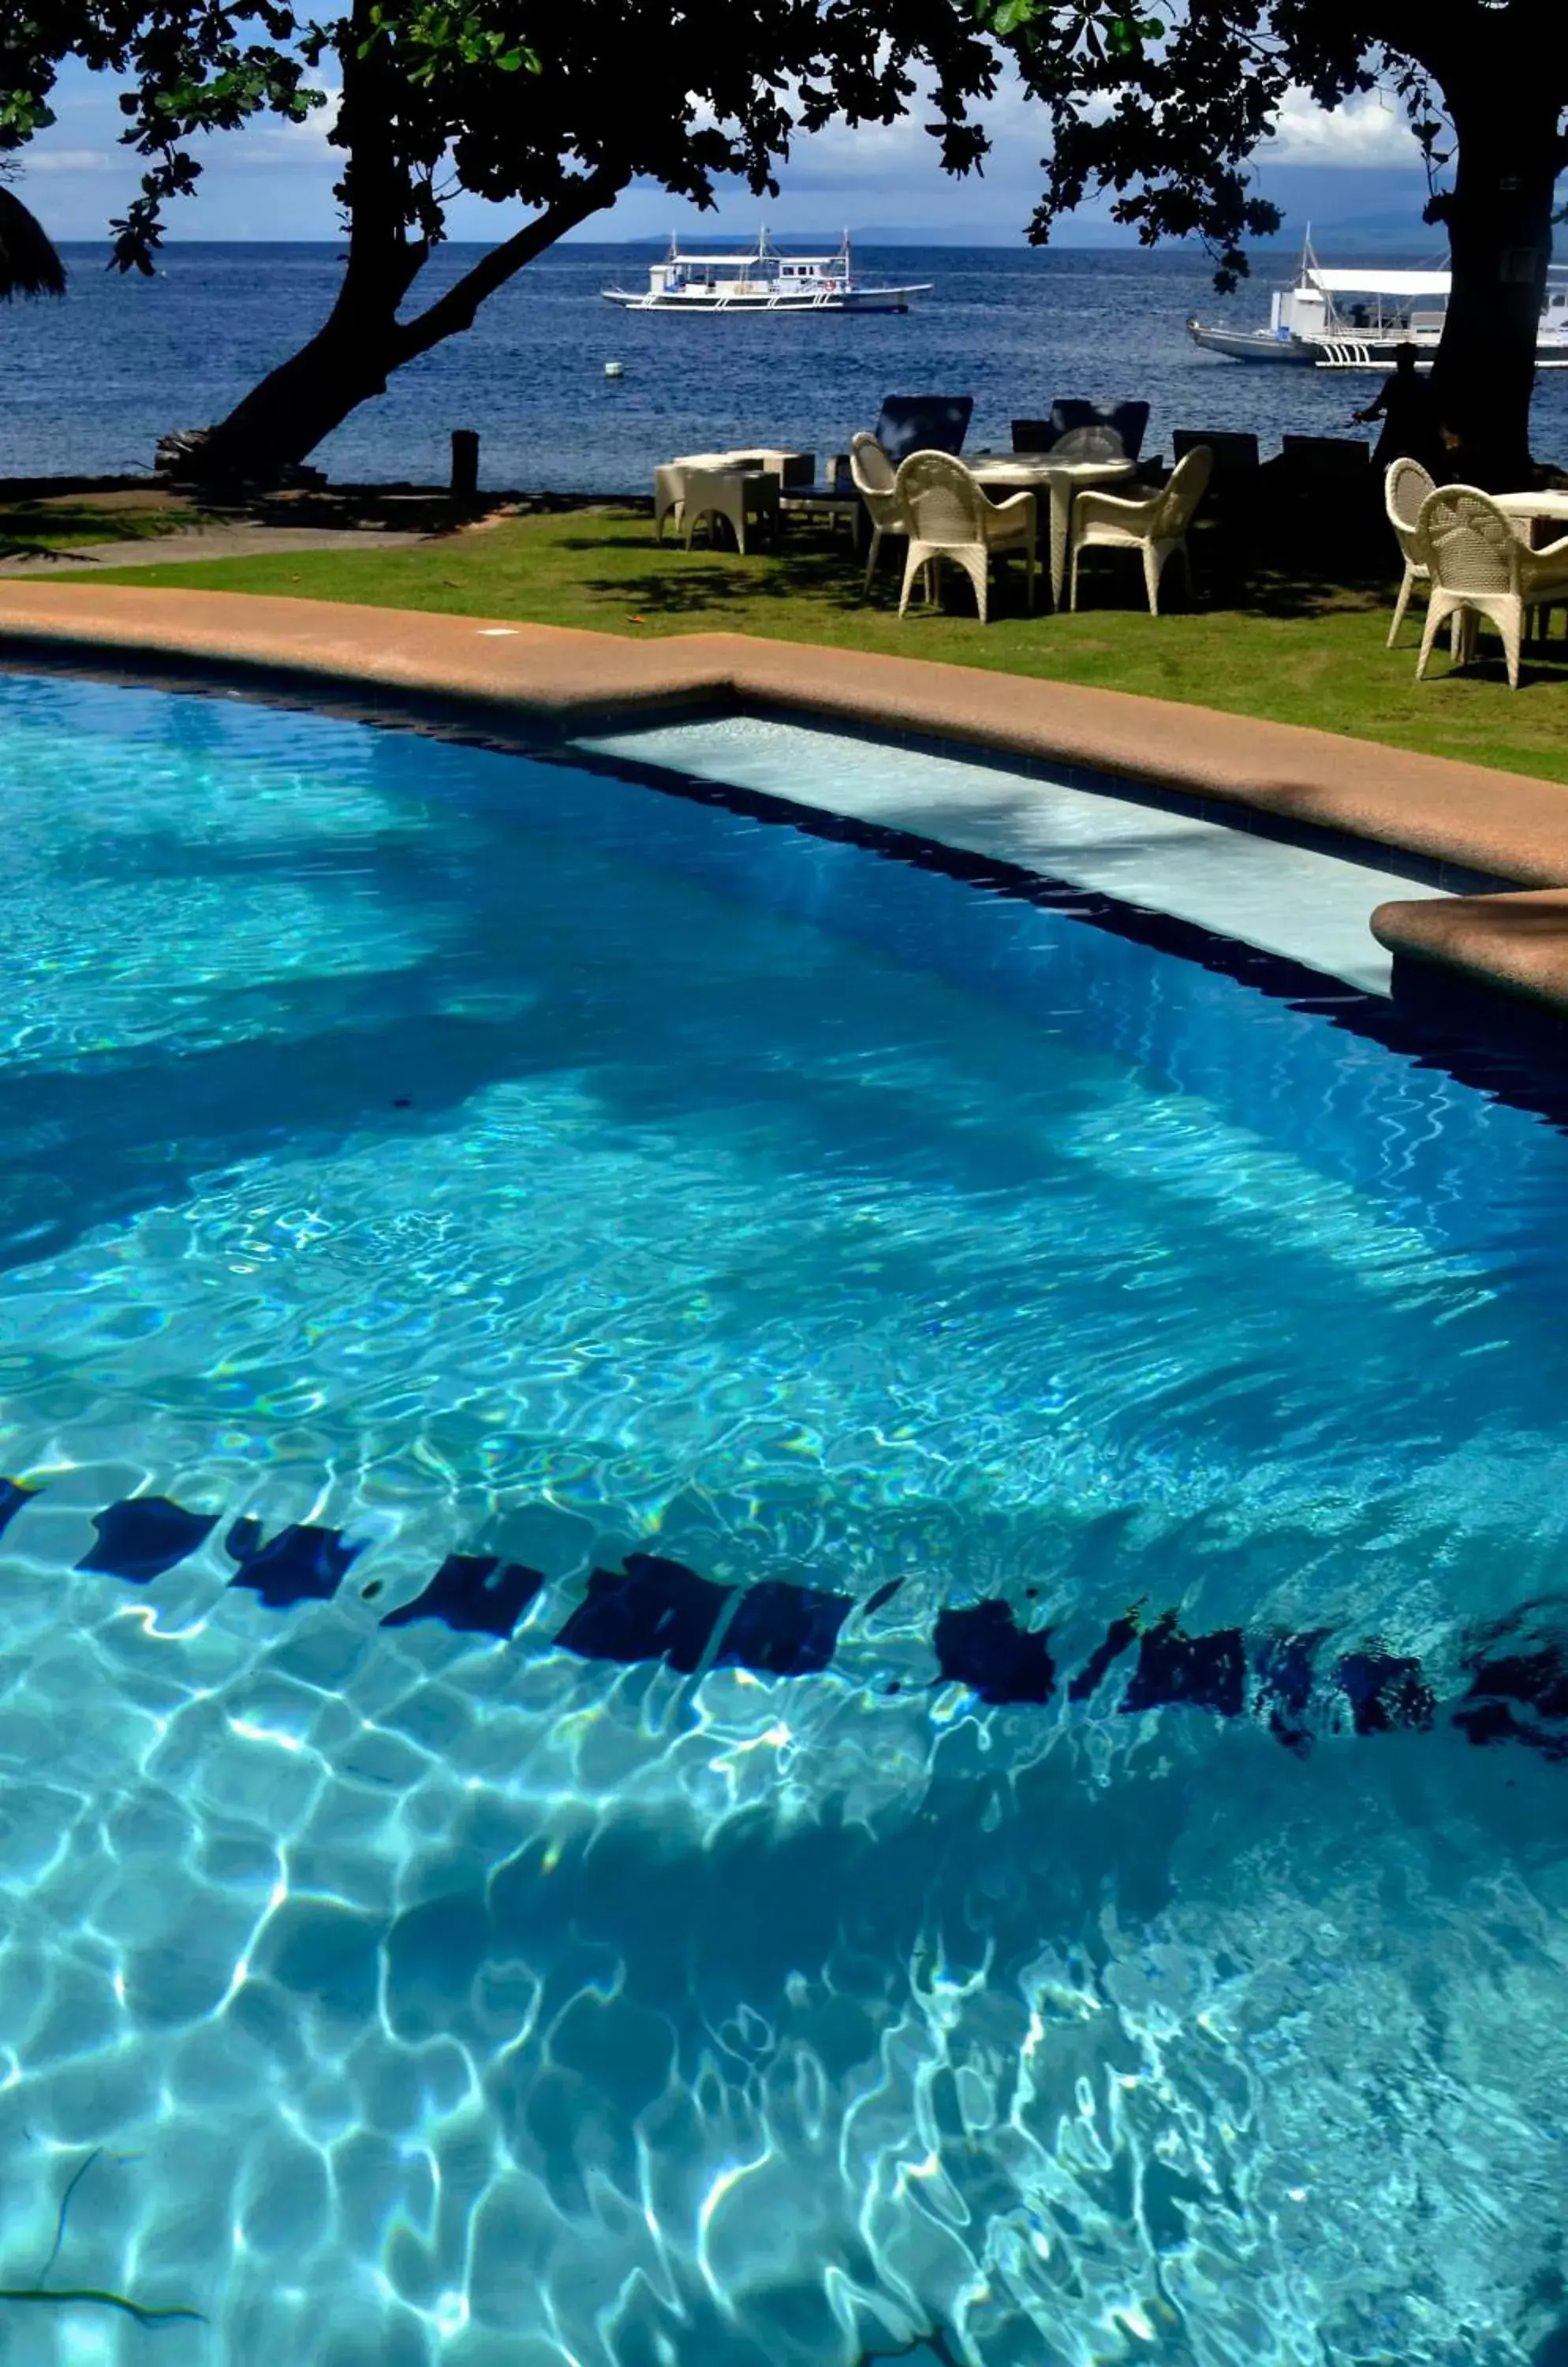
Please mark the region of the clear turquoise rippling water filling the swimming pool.
POLYGON ((201 2313, 0 2358, 1530 2360, 1563 1139, 587 765, 0 795, 0 2284, 201 2313))

